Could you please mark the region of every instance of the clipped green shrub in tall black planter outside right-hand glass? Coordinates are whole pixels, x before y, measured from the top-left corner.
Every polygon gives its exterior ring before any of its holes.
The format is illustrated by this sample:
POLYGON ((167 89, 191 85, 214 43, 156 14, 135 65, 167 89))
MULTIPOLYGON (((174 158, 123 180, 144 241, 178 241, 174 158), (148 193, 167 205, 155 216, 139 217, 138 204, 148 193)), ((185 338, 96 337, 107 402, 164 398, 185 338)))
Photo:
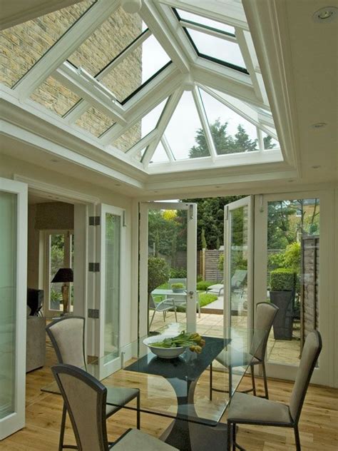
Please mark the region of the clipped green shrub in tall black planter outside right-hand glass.
POLYGON ((275 340, 292 340, 295 270, 277 268, 270 273, 270 300, 278 307, 273 324, 275 340))

